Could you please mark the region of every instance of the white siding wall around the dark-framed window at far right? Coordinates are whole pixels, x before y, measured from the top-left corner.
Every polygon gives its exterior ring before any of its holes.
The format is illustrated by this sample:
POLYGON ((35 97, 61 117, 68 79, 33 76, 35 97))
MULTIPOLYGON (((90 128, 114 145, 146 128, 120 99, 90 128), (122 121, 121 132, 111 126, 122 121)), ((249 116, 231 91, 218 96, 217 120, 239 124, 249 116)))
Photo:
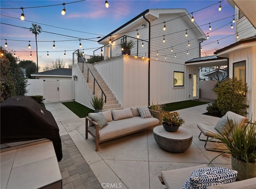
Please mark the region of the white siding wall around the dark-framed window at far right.
POLYGON ((248 108, 248 118, 253 115, 256 120, 256 47, 242 49, 229 54, 229 73, 233 77, 233 63, 246 61, 246 83, 248 84, 248 93, 246 94, 248 108))

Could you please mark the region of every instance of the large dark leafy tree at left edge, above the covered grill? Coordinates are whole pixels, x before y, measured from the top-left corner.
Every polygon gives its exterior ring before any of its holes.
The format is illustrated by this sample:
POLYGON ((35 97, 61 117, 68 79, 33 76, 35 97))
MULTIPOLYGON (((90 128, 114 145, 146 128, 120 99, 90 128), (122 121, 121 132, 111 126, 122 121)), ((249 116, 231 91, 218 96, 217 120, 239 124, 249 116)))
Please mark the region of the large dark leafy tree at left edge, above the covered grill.
POLYGON ((17 64, 18 58, 14 57, 12 53, 7 52, 2 46, 0 49, 1 54, 3 54, 0 60, 0 101, 4 101, 11 96, 25 95, 28 92, 26 90, 28 81, 24 78, 23 72, 17 64))

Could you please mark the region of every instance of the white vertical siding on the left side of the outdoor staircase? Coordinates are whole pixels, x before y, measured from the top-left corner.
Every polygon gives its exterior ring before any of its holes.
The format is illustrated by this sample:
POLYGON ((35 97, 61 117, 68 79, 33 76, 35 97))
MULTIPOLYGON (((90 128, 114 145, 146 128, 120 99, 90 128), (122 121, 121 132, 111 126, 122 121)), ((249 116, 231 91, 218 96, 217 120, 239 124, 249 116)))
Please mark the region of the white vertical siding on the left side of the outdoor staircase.
POLYGON ((72 66, 72 76, 74 75, 77 76, 77 81, 73 80, 75 101, 93 109, 90 103, 92 93, 90 92, 90 89, 82 76, 82 71, 80 70, 78 64, 74 64, 72 66))

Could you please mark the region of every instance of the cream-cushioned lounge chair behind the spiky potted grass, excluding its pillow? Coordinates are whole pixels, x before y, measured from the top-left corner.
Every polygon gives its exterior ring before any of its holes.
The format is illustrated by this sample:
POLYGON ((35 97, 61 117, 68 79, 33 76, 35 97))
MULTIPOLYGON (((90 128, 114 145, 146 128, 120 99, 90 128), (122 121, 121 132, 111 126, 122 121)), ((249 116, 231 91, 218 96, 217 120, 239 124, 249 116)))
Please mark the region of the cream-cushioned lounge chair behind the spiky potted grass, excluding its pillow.
MULTIPOLYGON (((241 127, 242 125, 244 125, 244 123, 248 122, 248 119, 246 117, 244 117, 242 115, 239 115, 237 113, 234 113, 232 111, 228 111, 225 115, 226 115, 226 117, 228 117, 229 120, 232 119, 232 122, 233 122, 233 126, 232 126, 231 130, 229 131, 229 133, 234 131, 234 129, 236 127, 241 127)), ((215 150, 215 149, 211 149, 211 148, 206 147, 206 144, 208 142, 220 142, 218 140, 209 140, 209 137, 216 137, 217 134, 218 134, 218 131, 215 129, 215 127, 213 127, 211 125, 206 125, 204 123, 198 123, 197 127, 201 131, 200 135, 198 136, 199 140, 205 141, 204 148, 206 150, 209 150, 209 151, 222 152, 220 150, 215 150), (203 134, 207 138, 206 139, 200 138, 201 134, 203 134)))

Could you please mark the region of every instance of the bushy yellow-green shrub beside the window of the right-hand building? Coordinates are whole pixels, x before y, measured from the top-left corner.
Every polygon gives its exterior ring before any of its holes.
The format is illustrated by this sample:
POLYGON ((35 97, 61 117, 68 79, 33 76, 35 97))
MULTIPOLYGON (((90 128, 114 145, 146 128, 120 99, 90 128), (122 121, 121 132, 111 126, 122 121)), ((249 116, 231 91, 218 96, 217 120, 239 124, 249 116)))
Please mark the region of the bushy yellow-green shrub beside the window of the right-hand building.
POLYGON ((225 115, 227 111, 233 111, 240 115, 248 114, 246 108, 249 105, 244 104, 248 86, 243 83, 242 79, 228 78, 226 81, 218 83, 213 90, 217 94, 217 106, 221 115, 225 115))

